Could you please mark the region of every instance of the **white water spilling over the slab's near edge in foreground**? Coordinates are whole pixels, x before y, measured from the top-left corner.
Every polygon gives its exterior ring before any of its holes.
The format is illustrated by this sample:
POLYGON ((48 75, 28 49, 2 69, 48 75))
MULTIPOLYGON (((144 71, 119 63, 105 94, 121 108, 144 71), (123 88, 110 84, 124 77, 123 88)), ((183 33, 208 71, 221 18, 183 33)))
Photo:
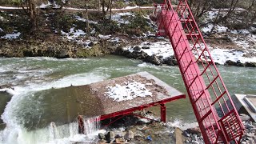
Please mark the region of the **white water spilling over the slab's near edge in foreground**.
MULTIPOLYGON (((21 127, 6 127, 0 131, 0 143, 95 143, 99 131, 99 117, 84 118, 84 134, 78 133, 78 122, 57 126, 54 122, 46 128, 27 131, 21 127)), ((105 131, 102 131, 104 133, 105 131)))

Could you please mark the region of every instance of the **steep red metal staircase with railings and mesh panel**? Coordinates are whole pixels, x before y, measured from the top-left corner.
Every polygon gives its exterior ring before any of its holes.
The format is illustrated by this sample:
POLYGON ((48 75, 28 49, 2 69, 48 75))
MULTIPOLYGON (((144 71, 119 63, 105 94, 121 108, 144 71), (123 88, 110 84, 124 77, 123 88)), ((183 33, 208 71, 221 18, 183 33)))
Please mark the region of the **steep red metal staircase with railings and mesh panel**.
POLYGON ((156 5, 158 34, 169 36, 206 143, 239 143, 244 127, 186 0, 156 5))

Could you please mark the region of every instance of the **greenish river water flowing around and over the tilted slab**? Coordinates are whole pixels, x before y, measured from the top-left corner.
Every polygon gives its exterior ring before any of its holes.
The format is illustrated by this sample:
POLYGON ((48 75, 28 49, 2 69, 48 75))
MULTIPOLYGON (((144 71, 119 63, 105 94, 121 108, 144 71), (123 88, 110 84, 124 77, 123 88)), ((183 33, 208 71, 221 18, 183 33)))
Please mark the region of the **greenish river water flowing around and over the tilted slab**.
MULTIPOLYGON (((218 66, 230 94, 256 94, 255 68, 218 66)), ((147 71, 186 94, 178 66, 154 66, 139 60, 103 58, 0 58, 0 143, 89 142, 98 124, 78 134, 74 97, 56 88, 80 86, 147 71), (7 91, 3 92, 3 91, 7 91), (60 93, 60 94, 59 94, 60 93), (64 92, 63 92, 64 93, 64 92), (3 124, 4 123, 4 124, 3 124)), ((188 98, 167 105, 169 122, 195 122, 188 98)), ((156 110, 157 111, 157 110, 156 110)))

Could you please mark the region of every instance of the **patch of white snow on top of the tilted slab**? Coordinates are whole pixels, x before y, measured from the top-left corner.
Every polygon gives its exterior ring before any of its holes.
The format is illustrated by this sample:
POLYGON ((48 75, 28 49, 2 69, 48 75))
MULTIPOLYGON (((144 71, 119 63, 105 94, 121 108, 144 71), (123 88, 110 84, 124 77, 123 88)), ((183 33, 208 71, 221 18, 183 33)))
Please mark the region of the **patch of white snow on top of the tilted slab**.
MULTIPOLYGON (((147 84, 146 84, 147 85, 147 84)), ((105 95, 113 98, 116 102, 132 100, 137 97, 152 96, 150 90, 146 89, 145 84, 141 82, 124 82, 123 86, 116 84, 115 86, 107 86, 108 91, 105 95)))

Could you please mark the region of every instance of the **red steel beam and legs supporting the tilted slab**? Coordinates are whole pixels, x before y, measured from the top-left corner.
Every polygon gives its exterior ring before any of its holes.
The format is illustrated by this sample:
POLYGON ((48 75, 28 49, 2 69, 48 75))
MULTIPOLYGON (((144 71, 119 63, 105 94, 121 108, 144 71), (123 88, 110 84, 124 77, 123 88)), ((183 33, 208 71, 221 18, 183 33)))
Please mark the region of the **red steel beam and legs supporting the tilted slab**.
MULTIPOLYGON (((164 99, 162 101, 152 102, 152 103, 149 103, 149 104, 146 104, 146 105, 142 105, 142 106, 137 106, 137 107, 134 107, 134 108, 131 108, 131 109, 117 111, 117 112, 111 113, 111 114, 101 115, 100 118, 98 118, 96 120, 95 119, 91 120, 91 122, 102 121, 102 120, 105 120, 107 118, 117 118, 118 116, 121 116, 120 118, 122 118, 125 115, 132 114, 136 110, 143 110, 143 109, 146 109, 146 108, 152 107, 152 106, 160 106, 161 121, 162 122, 166 122, 166 106, 165 106, 165 104, 167 102, 171 102, 171 101, 174 101, 174 100, 177 100, 177 99, 181 99, 181 98, 186 98, 186 95, 185 94, 181 94, 181 95, 174 96, 174 97, 171 97, 171 98, 166 98, 166 99, 164 99)), ((136 115, 136 114, 134 114, 134 115, 138 116, 138 117, 142 117, 142 116, 139 116, 139 115, 136 115)), ((142 117, 142 118, 144 118, 144 117, 142 117)), ((119 118, 115 119, 113 122, 115 122, 118 119, 119 118)), ((147 119, 149 119, 149 118, 147 118, 147 119)), ((113 122, 110 122, 107 126, 109 126, 113 122)), ((78 131, 79 131, 80 134, 84 133, 84 122, 83 122, 82 115, 78 115, 78 131)))

